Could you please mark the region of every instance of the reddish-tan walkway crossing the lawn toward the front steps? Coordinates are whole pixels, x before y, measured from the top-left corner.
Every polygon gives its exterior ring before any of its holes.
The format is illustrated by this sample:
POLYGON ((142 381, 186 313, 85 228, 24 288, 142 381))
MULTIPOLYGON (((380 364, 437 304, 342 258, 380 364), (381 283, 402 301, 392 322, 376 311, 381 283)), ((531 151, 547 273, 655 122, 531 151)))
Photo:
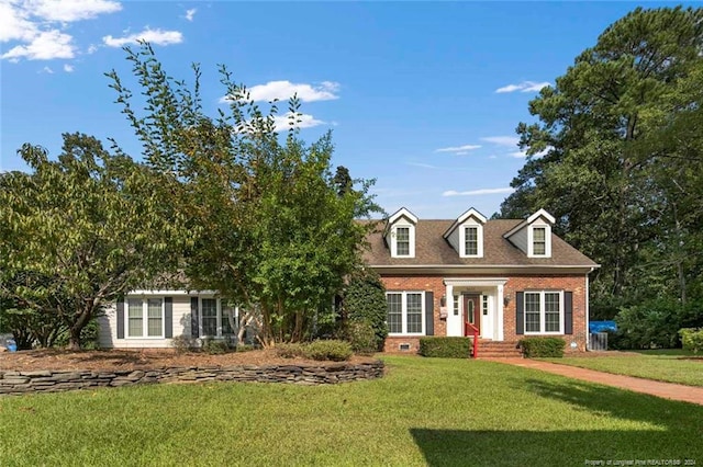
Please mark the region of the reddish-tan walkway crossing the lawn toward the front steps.
POLYGON ((583 381, 599 383, 614 386, 635 392, 648 394, 665 399, 681 400, 703 406, 703 387, 684 386, 674 383, 661 383, 651 379, 635 378, 632 376, 613 375, 595 372, 593 369, 578 368, 576 366, 559 365, 556 363, 539 362, 529 358, 480 358, 491 362, 505 363, 522 366, 524 368, 539 369, 555 375, 567 376, 583 381))

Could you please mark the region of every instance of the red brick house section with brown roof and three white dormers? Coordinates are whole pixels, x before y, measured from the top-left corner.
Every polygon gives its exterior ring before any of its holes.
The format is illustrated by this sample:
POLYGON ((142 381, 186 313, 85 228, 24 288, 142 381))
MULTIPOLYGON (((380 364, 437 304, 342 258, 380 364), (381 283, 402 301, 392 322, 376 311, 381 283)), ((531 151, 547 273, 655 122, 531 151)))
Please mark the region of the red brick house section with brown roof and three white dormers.
POLYGON ((554 235, 554 223, 544 209, 522 220, 488 220, 473 208, 448 220, 406 208, 391 215, 365 257, 387 289, 386 351, 415 352, 423 335, 473 332, 484 351, 514 349, 531 335, 584 351, 588 275, 599 265, 554 235))

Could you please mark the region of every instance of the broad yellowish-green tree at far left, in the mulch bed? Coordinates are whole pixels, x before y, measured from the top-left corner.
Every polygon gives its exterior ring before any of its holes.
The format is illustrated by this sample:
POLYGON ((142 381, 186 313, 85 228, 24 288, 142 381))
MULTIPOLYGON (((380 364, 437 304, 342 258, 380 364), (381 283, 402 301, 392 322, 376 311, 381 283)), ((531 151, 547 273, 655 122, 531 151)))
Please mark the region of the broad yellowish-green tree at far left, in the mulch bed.
POLYGON ((0 294, 52 314, 78 349, 109 301, 176 271, 188 242, 176 185, 82 134, 64 135, 58 160, 29 144, 19 152, 31 172, 0 183, 0 294))

